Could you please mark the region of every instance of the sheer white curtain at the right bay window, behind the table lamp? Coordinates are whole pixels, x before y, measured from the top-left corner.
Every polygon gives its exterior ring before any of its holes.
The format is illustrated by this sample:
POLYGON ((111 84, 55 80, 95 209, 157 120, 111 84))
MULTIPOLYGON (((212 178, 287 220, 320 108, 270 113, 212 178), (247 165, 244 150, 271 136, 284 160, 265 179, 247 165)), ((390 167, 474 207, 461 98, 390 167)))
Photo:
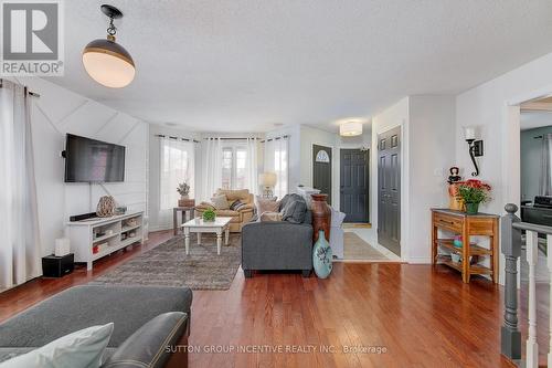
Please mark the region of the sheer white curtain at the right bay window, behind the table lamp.
POLYGON ((274 196, 284 197, 289 192, 289 140, 288 137, 267 139, 265 141, 265 172, 276 174, 274 196))

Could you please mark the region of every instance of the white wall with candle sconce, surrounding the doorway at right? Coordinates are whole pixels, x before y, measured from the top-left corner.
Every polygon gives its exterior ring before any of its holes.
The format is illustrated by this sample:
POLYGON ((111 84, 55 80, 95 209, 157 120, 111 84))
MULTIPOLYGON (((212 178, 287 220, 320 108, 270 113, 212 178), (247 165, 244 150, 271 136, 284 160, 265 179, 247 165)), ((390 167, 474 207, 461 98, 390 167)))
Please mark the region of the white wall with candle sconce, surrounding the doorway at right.
POLYGON ((476 125, 485 144, 480 179, 493 186, 492 201, 482 210, 505 213, 507 202, 520 201, 519 109, 509 107, 552 93, 552 53, 539 57, 456 98, 456 155, 466 177, 471 172, 463 126, 476 125))

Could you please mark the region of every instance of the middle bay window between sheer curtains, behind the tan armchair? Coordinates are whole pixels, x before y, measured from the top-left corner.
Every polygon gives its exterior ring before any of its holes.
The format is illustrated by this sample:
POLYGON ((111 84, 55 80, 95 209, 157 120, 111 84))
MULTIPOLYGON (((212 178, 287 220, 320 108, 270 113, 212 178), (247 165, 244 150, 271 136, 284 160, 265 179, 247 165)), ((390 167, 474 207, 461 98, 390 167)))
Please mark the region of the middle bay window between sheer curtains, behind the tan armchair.
POLYGON ((247 147, 236 145, 222 148, 222 188, 247 188, 247 147))

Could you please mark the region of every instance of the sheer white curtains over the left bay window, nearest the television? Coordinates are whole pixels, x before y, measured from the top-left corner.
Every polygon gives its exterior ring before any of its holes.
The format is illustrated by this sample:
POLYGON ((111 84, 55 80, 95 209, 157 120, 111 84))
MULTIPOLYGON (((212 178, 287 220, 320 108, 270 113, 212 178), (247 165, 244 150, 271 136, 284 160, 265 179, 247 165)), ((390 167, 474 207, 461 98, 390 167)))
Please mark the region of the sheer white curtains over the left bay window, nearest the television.
POLYGON ((179 183, 185 181, 190 186, 190 198, 195 190, 194 182, 194 144, 181 139, 160 137, 160 223, 170 224, 172 208, 178 204, 179 183))

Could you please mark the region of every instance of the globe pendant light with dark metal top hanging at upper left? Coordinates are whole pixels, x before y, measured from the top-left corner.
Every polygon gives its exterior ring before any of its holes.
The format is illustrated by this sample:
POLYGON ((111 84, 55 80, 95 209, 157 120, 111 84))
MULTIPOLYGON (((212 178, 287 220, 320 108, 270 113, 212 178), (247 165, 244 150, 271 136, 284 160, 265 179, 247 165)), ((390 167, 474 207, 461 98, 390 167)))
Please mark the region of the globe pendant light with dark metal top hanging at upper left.
POLYGON ((107 4, 103 4, 100 9, 109 18, 107 39, 94 40, 84 48, 84 69, 97 83, 110 88, 121 88, 132 82, 136 73, 132 56, 115 42, 117 29, 113 20, 123 18, 123 13, 107 4))

